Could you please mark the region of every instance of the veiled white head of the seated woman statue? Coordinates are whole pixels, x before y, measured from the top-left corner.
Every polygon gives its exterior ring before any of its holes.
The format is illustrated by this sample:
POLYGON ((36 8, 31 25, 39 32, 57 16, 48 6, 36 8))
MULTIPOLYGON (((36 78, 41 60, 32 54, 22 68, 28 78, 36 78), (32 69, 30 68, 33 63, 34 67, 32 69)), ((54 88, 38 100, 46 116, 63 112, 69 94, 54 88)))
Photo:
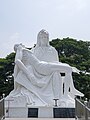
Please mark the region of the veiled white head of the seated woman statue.
POLYGON ((37 46, 49 46, 49 33, 44 29, 37 35, 37 46))

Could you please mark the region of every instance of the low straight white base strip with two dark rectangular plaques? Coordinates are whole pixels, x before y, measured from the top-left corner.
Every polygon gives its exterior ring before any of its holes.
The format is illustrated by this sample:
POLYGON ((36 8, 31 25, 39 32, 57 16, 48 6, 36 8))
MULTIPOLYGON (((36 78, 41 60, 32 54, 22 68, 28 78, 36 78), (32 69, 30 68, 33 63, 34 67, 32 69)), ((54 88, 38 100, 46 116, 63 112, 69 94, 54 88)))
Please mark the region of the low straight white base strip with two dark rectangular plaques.
POLYGON ((7 118, 74 118, 75 108, 60 107, 10 107, 5 108, 7 118))

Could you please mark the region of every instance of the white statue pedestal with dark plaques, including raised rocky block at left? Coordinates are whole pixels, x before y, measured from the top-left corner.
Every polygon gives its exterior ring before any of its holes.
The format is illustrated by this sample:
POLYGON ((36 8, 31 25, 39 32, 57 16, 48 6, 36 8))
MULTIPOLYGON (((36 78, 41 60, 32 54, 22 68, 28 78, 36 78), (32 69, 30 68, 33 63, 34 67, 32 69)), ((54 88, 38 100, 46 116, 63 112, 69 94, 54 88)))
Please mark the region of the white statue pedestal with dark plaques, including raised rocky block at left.
MULTIPOLYGON (((37 106, 27 105, 25 97, 17 97, 15 99, 5 100, 5 117, 7 118, 73 118, 75 116, 74 107, 65 107, 63 101, 62 106, 58 104, 37 106)), ((70 103, 69 103, 70 104, 70 103)), ((72 104, 71 104, 72 106, 72 104)))

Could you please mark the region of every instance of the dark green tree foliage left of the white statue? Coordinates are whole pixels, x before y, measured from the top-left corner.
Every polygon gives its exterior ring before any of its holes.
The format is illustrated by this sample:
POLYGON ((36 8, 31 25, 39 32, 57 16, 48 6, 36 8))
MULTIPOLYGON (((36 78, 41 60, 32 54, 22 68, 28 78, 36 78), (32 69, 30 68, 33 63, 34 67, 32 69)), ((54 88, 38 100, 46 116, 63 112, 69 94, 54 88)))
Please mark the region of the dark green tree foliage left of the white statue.
POLYGON ((0 96, 3 93, 7 96, 14 88, 14 57, 15 53, 11 53, 6 58, 0 58, 0 96))

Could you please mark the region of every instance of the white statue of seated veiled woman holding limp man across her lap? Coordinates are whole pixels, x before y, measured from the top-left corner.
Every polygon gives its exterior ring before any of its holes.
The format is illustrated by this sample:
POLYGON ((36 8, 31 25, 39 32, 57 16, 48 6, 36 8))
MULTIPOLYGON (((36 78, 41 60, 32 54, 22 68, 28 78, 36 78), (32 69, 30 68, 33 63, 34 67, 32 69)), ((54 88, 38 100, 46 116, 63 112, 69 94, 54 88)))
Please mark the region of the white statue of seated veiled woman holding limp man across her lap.
POLYGON ((26 104, 39 106, 53 105, 56 98, 59 105, 62 106, 64 102, 64 106, 69 107, 71 103, 74 104, 70 92, 73 96, 83 96, 74 88, 72 67, 59 62, 57 51, 49 45, 47 31, 38 33, 37 44, 31 51, 21 44, 16 44, 14 50, 14 90, 9 97, 24 96, 26 104), (63 80, 60 73, 65 73, 63 80))

